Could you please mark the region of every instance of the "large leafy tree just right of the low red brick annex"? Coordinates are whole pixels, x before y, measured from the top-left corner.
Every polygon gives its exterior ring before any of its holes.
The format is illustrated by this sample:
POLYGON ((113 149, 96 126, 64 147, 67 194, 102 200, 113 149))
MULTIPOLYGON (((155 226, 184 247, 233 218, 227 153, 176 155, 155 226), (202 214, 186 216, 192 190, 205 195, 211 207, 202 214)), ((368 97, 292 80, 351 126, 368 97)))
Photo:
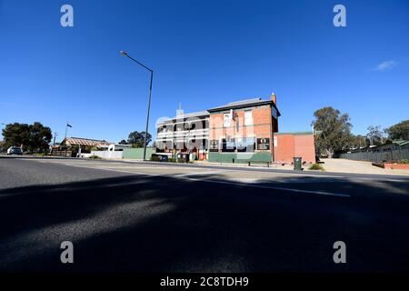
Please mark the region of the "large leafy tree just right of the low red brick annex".
POLYGON ((333 107, 324 107, 314 112, 315 131, 321 131, 315 140, 315 146, 319 154, 333 157, 335 152, 342 151, 351 141, 351 123, 349 115, 341 115, 340 111, 333 107))

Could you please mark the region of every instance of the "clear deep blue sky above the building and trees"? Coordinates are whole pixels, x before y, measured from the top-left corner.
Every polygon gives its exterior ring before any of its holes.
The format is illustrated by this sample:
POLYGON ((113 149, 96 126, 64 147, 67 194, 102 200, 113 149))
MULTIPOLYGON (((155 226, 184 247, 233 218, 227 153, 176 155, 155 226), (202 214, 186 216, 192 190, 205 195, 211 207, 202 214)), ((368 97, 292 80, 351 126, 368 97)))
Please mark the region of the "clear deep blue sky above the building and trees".
MULTIPOLYGON (((40 121, 117 142, 155 120, 272 91, 280 131, 314 110, 349 113, 355 134, 409 117, 409 1, 0 0, 0 122, 40 121), (74 7, 74 27, 60 7, 74 7), (347 26, 334 27, 333 7, 347 26)), ((0 125, 2 128, 3 125, 0 125)))

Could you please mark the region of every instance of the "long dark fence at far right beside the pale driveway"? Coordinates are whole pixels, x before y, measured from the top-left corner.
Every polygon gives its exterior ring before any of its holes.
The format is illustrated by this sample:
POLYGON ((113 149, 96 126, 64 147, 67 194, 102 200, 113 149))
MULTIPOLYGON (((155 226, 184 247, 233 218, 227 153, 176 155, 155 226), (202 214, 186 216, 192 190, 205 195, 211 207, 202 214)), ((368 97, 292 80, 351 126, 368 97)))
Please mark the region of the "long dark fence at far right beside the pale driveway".
POLYGON ((370 162, 387 162, 399 161, 409 159, 409 148, 385 148, 371 150, 362 150, 354 153, 341 154, 341 158, 346 158, 356 161, 370 161, 370 162))

